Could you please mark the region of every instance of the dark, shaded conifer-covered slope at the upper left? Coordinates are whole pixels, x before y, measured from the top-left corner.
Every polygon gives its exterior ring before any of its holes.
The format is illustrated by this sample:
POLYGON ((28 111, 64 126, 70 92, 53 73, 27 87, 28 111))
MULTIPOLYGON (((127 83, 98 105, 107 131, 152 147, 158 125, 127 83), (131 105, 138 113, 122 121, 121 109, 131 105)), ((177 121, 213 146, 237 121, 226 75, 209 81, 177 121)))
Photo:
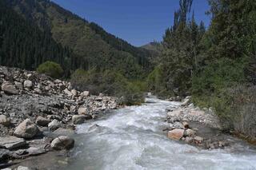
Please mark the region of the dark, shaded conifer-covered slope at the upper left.
POLYGON ((0 65, 31 70, 50 60, 70 68, 76 60, 70 48, 62 47, 51 38, 51 34, 26 22, 2 2, 0 21, 0 65))

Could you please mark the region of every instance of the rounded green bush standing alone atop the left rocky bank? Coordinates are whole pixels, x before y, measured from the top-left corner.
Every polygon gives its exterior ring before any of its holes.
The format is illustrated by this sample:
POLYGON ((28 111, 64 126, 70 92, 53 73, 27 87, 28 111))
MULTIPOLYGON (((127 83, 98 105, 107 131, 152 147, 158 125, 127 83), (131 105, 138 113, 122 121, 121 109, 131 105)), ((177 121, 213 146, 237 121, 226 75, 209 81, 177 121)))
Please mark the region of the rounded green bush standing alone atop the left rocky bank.
POLYGON ((56 62, 53 61, 46 61, 38 66, 37 69, 38 73, 45 73, 47 76, 53 77, 53 78, 59 78, 62 77, 64 71, 56 62))

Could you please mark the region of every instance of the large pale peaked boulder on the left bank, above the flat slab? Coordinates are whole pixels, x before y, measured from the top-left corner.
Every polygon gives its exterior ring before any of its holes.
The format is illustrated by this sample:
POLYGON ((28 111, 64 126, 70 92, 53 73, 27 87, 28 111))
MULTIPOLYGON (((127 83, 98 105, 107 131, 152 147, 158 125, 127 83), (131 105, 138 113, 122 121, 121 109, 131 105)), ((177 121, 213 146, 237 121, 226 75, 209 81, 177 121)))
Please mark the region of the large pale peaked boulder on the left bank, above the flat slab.
POLYGON ((38 132, 38 126, 30 121, 30 119, 26 119, 15 129, 14 136, 30 139, 36 136, 38 132))

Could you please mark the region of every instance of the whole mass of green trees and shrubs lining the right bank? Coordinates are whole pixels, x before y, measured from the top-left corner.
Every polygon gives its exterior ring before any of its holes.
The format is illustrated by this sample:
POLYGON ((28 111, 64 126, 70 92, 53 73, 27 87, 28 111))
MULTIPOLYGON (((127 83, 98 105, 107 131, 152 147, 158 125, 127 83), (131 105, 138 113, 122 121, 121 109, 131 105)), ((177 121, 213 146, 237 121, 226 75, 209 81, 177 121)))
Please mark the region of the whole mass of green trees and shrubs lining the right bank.
POLYGON ((180 0, 158 66, 148 77, 160 96, 192 95, 214 107, 227 130, 256 137, 254 0, 210 0, 209 28, 195 22, 193 0, 180 0))

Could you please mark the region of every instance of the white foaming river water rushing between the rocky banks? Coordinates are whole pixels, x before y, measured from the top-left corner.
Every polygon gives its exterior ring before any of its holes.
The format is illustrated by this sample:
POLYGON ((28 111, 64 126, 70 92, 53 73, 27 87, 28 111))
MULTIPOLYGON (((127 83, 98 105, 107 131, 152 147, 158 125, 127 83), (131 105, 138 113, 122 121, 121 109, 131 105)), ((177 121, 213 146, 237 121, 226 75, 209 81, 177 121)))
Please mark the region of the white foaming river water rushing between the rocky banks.
POLYGON ((168 139, 162 132, 165 109, 179 103, 146 101, 78 126, 66 169, 256 169, 256 152, 246 144, 208 151, 168 139), (100 127, 91 128, 96 124, 100 127))

